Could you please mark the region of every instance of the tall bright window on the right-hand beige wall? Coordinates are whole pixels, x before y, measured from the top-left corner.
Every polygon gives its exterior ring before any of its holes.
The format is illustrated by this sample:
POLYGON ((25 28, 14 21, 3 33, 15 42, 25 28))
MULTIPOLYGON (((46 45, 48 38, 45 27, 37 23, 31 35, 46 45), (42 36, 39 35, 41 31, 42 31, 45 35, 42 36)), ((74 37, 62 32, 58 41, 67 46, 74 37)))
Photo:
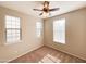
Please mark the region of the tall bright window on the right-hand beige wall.
POLYGON ((65 18, 53 22, 53 41, 65 43, 65 18))

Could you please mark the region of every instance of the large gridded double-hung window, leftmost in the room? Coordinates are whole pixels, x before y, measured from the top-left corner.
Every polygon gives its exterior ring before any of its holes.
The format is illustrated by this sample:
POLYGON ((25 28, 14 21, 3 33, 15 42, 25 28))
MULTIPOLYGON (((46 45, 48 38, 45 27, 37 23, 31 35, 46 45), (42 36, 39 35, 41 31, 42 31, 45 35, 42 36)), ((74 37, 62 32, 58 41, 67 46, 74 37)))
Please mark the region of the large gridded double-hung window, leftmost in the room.
POLYGON ((21 25, 20 17, 5 16, 5 34, 7 42, 15 42, 21 39, 21 25))

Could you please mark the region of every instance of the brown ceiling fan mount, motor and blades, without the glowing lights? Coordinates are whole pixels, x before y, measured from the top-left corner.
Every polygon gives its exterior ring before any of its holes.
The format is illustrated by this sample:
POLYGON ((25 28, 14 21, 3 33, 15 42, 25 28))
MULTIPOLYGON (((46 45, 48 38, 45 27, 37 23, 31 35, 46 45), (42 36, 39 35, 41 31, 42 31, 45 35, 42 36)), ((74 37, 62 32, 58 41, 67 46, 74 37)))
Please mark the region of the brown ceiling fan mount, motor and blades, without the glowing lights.
POLYGON ((51 11, 58 11, 60 8, 53 8, 53 9, 49 9, 49 1, 45 1, 42 4, 44 4, 44 8, 40 10, 40 9, 33 9, 34 11, 41 11, 41 13, 39 15, 44 15, 44 13, 49 13, 50 15, 50 12, 51 11))

